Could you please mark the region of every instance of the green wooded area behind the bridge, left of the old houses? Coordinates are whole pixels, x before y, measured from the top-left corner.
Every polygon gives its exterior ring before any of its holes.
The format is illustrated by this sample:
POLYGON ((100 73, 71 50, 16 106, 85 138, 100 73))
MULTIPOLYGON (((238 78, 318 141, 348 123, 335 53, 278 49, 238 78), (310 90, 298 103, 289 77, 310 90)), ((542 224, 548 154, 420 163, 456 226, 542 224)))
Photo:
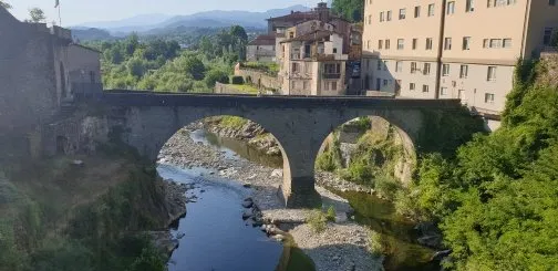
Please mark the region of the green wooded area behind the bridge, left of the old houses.
POLYGON ((203 37, 188 50, 174 40, 141 40, 136 34, 87 45, 103 53, 106 90, 211 92, 215 82, 228 82, 234 63, 245 58, 247 41, 244 28, 235 25, 203 37))

